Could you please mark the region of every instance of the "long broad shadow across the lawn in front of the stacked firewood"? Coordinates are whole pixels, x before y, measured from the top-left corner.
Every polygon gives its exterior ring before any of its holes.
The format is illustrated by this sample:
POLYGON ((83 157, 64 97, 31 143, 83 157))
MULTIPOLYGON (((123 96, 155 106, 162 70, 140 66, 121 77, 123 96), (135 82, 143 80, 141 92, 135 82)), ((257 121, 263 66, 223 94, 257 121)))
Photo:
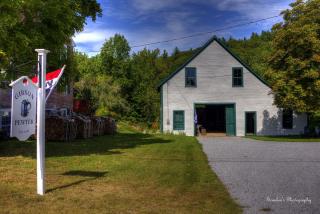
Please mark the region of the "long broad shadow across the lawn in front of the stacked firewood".
MULTIPOLYGON (((118 133, 90 139, 77 139, 72 142, 46 142, 46 157, 79 156, 90 154, 121 154, 116 149, 130 149, 141 145, 170 143, 154 135, 142 133, 118 133)), ((0 157, 36 157, 36 142, 17 140, 0 141, 0 157)))

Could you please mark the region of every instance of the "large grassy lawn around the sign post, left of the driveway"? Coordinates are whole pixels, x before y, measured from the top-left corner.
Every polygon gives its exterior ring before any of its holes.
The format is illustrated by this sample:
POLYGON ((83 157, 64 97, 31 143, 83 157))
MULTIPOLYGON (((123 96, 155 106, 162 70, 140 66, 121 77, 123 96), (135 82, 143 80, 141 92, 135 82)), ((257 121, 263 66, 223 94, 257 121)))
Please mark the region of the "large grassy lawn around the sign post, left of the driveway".
POLYGON ((36 195, 35 142, 0 142, 1 213, 240 213, 192 137, 141 134, 46 144, 36 195))

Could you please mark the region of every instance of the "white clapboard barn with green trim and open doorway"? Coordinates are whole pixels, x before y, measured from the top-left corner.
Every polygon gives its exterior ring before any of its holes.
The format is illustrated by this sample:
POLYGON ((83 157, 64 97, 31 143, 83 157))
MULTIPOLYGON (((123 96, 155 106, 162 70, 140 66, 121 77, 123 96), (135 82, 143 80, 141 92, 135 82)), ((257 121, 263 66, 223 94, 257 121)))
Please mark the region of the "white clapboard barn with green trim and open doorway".
POLYGON ((159 90, 163 132, 298 135, 307 126, 306 114, 273 105, 267 82, 216 37, 163 80, 159 90))

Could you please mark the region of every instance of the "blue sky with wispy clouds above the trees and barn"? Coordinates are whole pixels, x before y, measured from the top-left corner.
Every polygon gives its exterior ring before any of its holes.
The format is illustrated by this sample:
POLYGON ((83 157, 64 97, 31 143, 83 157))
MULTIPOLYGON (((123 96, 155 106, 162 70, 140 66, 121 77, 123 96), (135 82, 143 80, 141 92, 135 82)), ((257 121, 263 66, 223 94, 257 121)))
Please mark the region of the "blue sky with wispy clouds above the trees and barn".
MULTIPOLYGON (((278 15, 293 0, 98 0, 103 16, 96 22, 87 21, 83 32, 74 36, 76 49, 95 55, 104 41, 115 33, 124 35, 131 46, 162 41, 217 28, 250 22, 278 15)), ((226 38, 249 37, 271 29, 281 21, 264 22, 215 33, 226 38)), ((212 34, 147 46, 171 52, 199 47, 212 34)), ((144 47, 133 48, 137 52, 144 47)))

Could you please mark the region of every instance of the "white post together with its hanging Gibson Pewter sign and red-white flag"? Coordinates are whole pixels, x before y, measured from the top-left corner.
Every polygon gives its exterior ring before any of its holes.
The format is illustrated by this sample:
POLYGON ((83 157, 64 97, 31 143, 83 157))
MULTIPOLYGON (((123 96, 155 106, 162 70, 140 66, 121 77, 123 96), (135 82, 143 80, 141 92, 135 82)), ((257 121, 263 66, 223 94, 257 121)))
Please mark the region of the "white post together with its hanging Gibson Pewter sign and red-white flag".
POLYGON ((50 51, 45 49, 35 51, 38 52, 38 75, 32 80, 22 76, 10 84, 12 86, 10 136, 26 141, 35 134, 37 127, 37 193, 44 195, 46 100, 58 84, 66 66, 47 74, 47 54, 50 51))

